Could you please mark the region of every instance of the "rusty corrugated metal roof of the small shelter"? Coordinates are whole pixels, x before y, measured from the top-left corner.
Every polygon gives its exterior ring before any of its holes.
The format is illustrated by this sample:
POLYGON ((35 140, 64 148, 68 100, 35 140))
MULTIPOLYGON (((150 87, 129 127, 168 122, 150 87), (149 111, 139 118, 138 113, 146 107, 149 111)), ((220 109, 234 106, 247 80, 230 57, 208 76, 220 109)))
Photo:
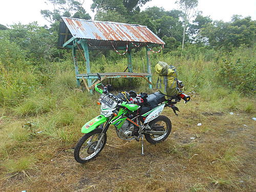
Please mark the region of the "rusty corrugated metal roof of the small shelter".
POLYGON ((146 26, 61 17, 76 38, 165 44, 146 26))

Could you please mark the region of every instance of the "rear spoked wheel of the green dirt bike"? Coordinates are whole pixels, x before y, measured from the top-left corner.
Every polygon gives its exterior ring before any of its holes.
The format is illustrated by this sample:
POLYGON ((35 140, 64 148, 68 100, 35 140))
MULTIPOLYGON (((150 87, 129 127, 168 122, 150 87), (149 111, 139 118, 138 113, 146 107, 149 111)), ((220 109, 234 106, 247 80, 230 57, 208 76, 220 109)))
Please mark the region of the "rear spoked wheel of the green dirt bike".
POLYGON ((164 132, 161 135, 145 135, 145 139, 147 140, 147 142, 150 142, 151 144, 156 144, 164 141, 169 136, 170 131, 172 131, 172 123, 170 122, 170 119, 163 115, 160 115, 159 117, 151 121, 149 125, 151 131, 164 132))

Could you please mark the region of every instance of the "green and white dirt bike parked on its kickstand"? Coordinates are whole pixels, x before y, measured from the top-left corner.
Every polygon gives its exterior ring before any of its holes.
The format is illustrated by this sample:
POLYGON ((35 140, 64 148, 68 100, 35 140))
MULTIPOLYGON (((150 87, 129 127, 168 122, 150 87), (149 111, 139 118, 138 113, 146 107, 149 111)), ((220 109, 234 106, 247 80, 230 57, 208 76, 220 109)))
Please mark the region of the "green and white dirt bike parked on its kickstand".
MULTIPOLYGON (((99 74, 98 79, 101 80, 99 74)), ((100 115, 82 126, 85 135, 78 141, 74 149, 74 158, 79 163, 86 163, 102 151, 106 143, 106 132, 114 125, 117 136, 123 140, 141 139, 142 155, 143 137, 146 141, 156 144, 164 141, 172 130, 172 123, 166 116, 160 115, 164 107, 169 106, 179 111, 175 106, 183 98, 185 102, 190 97, 183 94, 173 100, 165 100, 164 95, 156 92, 151 95, 137 95, 131 91, 127 98, 109 93, 108 88, 101 83, 96 84, 95 91, 101 94, 99 98, 100 115), (102 86, 99 89, 98 86, 102 86), (135 102, 140 101, 140 102, 135 102), (143 102, 141 102, 143 101, 143 102)))

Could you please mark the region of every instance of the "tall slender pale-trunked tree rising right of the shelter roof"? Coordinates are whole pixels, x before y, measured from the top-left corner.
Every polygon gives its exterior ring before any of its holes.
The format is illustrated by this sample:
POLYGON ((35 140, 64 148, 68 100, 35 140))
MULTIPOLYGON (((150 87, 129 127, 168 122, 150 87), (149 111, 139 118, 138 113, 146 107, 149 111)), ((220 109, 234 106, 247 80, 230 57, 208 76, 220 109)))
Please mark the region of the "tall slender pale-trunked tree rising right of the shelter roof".
POLYGON ((179 4, 182 10, 181 18, 183 20, 183 36, 182 36, 182 49, 184 49, 184 41, 186 29, 189 24, 189 20, 196 14, 195 8, 198 6, 198 0, 178 0, 176 4, 179 4))

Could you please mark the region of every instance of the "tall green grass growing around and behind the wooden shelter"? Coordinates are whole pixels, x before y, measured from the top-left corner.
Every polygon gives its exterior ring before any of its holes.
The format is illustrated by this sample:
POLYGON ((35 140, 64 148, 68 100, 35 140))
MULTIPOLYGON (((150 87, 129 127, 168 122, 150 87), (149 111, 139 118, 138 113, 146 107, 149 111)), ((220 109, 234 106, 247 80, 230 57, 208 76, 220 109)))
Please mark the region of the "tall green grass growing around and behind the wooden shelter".
MULTIPOLYGON (((187 91, 197 91, 201 94, 205 94, 206 92, 215 93, 216 90, 217 93, 220 93, 221 90, 229 93, 234 90, 243 94, 250 93, 255 89, 254 84, 256 82, 256 74, 255 70, 253 70, 255 67, 255 54, 253 50, 255 50, 254 47, 240 48, 234 50, 232 54, 218 54, 218 52, 213 52, 212 50, 201 50, 200 52, 198 50, 196 51, 196 48, 190 47, 185 51, 179 50, 180 52, 175 51, 165 54, 152 53, 151 67, 153 83, 155 84, 157 80, 154 70, 155 65, 159 60, 162 60, 170 65, 176 66, 178 78, 183 80, 187 91), (211 56, 209 57, 209 55, 211 56)), ((133 71, 147 72, 145 50, 142 49, 136 53, 133 52, 132 57, 133 71)), ((52 63, 51 67, 43 63, 40 67, 33 67, 28 62, 25 62, 25 60, 13 60, 15 65, 11 65, 8 62, 8 66, 12 66, 12 68, 8 69, 6 68, 6 60, 0 60, 0 78, 2 80, 0 83, 1 105, 20 105, 26 98, 31 98, 30 95, 33 93, 42 93, 47 97, 54 93, 58 94, 58 97, 61 98, 63 94, 68 94, 72 88, 76 87, 72 60, 52 63), (23 61, 26 65, 24 65, 23 61), (23 67, 20 69, 20 67, 16 66, 23 67)), ((92 73, 120 72, 124 71, 126 66, 127 59, 125 56, 116 55, 115 57, 105 57, 104 55, 99 55, 97 58, 91 59, 92 73)), ((86 73, 86 68, 82 60, 79 61, 79 67, 79 73, 86 73)), ((106 79, 105 82, 111 82, 114 87, 123 89, 147 87, 146 81, 139 78, 130 80, 125 78, 106 79)), ((216 94, 214 95, 216 97, 216 94)), ((31 103, 34 103, 33 100, 39 99, 39 97, 32 97, 31 103)), ((24 114, 37 114, 38 111, 44 111, 38 109, 32 112, 30 109, 38 108, 36 105, 34 103, 24 106, 24 114)), ((20 107, 18 111, 23 111, 22 108, 20 107)), ((18 114, 23 115, 23 112, 18 112, 18 114)))

